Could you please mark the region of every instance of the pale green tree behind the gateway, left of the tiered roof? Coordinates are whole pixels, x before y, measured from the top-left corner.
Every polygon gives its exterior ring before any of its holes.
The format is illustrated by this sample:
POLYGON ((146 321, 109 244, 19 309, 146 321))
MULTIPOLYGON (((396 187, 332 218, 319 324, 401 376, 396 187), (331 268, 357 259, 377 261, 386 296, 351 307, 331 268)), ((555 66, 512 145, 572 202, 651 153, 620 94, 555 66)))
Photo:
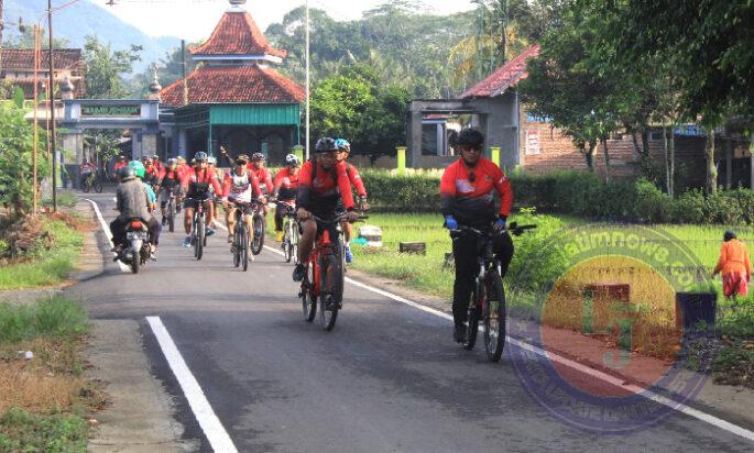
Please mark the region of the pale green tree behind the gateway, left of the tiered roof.
POLYGON ((130 91, 124 75, 133 70, 134 62, 141 60, 141 51, 138 45, 131 45, 129 51, 112 51, 96 36, 87 36, 84 45, 87 96, 92 99, 128 97, 130 91))

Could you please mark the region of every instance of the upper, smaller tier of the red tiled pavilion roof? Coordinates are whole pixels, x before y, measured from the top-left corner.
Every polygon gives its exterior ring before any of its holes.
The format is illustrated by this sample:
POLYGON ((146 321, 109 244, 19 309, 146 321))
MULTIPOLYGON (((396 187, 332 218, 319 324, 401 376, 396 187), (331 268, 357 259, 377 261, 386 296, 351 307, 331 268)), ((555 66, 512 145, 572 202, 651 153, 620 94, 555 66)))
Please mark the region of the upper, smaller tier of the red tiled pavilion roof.
POLYGON ((190 48, 195 55, 273 55, 285 58, 286 51, 270 45, 248 12, 228 11, 217 24, 212 35, 199 47, 190 48))

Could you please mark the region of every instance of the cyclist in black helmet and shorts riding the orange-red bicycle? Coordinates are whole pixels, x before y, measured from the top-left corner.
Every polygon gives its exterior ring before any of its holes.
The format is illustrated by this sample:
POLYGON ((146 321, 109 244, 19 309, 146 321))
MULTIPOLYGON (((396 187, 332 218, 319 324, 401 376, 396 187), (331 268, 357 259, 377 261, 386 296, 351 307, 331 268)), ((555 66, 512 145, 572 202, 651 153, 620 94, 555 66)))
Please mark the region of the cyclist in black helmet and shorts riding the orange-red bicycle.
POLYGON ((321 233, 313 216, 326 221, 334 220, 337 216, 338 200, 342 198, 348 221, 356 222, 359 219, 354 212, 351 184, 348 181, 348 175, 346 175, 346 165, 337 162, 337 152, 338 146, 336 146, 335 140, 319 139, 315 145, 315 159, 304 164, 298 175, 296 195, 298 210, 296 216, 302 236, 298 241, 298 264, 293 270, 294 281, 304 279, 315 240, 321 233))

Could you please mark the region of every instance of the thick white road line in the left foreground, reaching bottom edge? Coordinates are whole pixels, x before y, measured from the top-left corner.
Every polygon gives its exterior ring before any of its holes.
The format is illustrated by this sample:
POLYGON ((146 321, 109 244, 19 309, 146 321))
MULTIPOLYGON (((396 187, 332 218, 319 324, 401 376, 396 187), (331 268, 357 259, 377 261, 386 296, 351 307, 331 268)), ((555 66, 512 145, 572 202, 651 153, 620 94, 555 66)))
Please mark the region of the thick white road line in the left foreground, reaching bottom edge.
POLYGON ((196 420, 199 422, 212 450, 223 453, 238 452, 233 441, 222 427, 220 419, 215 415, 204 390, 201 390, 199 383, 196 380, 190 369, 188 369, 186 361, 184 361, 178 347, 175 345, 175 342, 173 342, 173 338, 171 338, 170 332, 167 332, 167 329, 162 323, 160 317, 146 317, 146 321, 150 323, 154 336, 157 338, 163 355, 165 355, 167 364, 171 366, 176 379, 178 379, 181 389, 188 400, 188 406, 190 406, 194 417, 196 417, 196 420))

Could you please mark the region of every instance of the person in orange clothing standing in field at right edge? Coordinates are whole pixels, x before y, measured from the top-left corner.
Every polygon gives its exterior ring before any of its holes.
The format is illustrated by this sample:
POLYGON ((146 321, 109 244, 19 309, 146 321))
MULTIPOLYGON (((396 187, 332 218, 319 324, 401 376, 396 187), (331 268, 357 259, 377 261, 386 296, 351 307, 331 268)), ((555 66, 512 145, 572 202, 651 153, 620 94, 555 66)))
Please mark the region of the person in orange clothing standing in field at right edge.
POLYGON ((725 231, 723 241, 712 277, 722 273, 722 291, 725 297, 746 296, 752 280, 752 262, 748 259, 746 244, 739 241, 730 230, 725 231))

